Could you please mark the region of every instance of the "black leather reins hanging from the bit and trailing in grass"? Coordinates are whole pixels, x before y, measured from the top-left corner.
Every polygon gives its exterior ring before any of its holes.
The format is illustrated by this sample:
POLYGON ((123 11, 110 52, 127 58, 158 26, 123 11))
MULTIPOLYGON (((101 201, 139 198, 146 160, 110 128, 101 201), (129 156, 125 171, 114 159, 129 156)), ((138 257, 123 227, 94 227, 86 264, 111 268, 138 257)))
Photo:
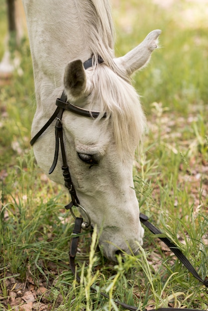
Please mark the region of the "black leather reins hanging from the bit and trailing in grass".
MULTIPOLYGON (((148 217, 144 214, 140 213, 140 221, 142 224, 144 224, 152 233, 154 234, 161 234, 162 232, 157 229, 155 226, 153 226, 150 222, 148 222, 148 217)), ((78 282, 80 282, 80 277, 76 271, 76 264, 75 264, 75 257, 76 257, 76 252, 77 252, 77 248, 78 248, 78 243, 79 243, 79 233, 81 233, 81 229, 82 229, 82 222, 83 219, 82 218, 76 218, 75 220, 75 227, 74 227, 74 231, 72 233, 72 240, 71 240, 71 246, 70 246, 70 252, 69 252, 69 263, 70 263, 70 268, 72 270, 73 275, 76 277, 76 280, 78 282)), ((203 280, 199 274, 197 273, 197 271, 194 269, 194 267, 191 265, 191 263, 189 262, 189 260, 186 258, 186 256, 181 252, 181 250, 178 248, 178 246, 173 243, 172 241, 170 241, 167 237, 159 237, 170 249, 171 251, 178 257, 178 259, 181 261, 181 263, 183 263, 186 268, 199 280, 201 281, 206 287, 208 287, 208 280, 203 280)), ((97 292, 97 289, 93 286, 91 286, 91 290, 94 292, 97 292)), ((109 299, 109 296, 106 295, 103 292, 100 292, 100 294, 109 299)), ((117 305, 130 310, 130 311, 137 311, 138 308, 134 307, 134 306, 130 306, 127 305, 125 303, 122 303, 118 300, 113 300, 114 303, 116 303, 117 305)), ((181 310, 180 308, 159 308, 159 309, 152 309, 149 311, 179 311, 181 310)), ((200 309, 186 309, 186 311, 205 311, 205 310, 200 310, 200 309)))

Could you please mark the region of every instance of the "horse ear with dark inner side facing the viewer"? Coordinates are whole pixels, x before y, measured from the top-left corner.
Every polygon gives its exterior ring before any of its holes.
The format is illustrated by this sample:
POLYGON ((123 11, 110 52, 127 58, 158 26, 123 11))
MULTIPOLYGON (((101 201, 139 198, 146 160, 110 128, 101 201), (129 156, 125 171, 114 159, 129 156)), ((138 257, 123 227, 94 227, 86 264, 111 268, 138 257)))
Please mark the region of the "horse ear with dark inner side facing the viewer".
POLYGON ((65 92, 69 98, 79 99, 88 95, 87 76, 81 60, 72 61, 64 74, 65 92))

